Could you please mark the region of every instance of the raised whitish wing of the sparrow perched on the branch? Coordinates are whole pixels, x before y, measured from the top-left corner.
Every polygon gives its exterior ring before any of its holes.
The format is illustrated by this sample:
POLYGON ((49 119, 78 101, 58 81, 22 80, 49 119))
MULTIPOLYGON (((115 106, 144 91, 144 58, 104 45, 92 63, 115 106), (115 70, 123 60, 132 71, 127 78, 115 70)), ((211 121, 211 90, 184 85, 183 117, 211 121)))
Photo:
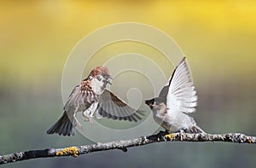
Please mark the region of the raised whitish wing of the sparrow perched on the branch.
MULTIPOLYGON (((161 92, 160 96, 166 95, 166 86, 161 92)), ((166 107, 170 113, 194 113, 196 106, 197 95, 195 86, 193 85, 185 57, 183 57, 183 60, 176 67, 169 80, 166 107)))

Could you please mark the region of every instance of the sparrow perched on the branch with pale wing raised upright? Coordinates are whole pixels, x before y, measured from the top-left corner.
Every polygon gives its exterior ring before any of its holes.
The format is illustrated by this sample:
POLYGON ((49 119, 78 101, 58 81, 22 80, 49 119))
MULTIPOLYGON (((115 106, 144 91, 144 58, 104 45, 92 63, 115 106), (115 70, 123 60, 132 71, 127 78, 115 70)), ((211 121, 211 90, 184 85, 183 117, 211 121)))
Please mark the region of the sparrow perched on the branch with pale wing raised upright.
POLYGON ((159 97, 145 101, 152 109, 154 121, 166 131, 204 132, 189 113, 195 112, 197 95, 185 57, 176 67, 159 97))

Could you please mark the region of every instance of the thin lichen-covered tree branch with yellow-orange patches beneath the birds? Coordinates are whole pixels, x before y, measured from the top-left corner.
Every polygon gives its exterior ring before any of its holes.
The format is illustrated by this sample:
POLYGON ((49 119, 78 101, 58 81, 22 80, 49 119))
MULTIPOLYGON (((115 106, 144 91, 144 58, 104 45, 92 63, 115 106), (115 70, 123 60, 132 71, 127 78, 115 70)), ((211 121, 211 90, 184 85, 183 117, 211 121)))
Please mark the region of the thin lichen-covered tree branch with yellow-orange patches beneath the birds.
POLYGON ((256 136, 246 136, 241 133, 229 134, 187 134, 173 133, 166 135, 160 132, 153 136, 142 136, 131 140, 120 140, 106 143, 96 143, 70 148, 47 148, 43 150, 30 150, 14 154, 0 156, 0 165, 17 162, 25 159, 48 158, 57 156, 78 157, 79 154, 90 154, 92 152, 120 149, 127 152, 127 148, 147 145, 153 142, 235 142, 235 143, 256 143, 256 136), (164 135, 163 135, 164 134, 164 135))

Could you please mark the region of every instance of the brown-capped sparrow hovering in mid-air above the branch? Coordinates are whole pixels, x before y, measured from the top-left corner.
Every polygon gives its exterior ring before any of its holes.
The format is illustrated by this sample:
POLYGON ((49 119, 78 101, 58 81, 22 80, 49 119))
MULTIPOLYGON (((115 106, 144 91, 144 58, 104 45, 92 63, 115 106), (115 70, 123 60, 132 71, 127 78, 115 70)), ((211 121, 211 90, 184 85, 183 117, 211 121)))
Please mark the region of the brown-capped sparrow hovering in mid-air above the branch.
POLYGON ((47 134, 60 136, 74 136, 75 126, 82 125, 76 118, 78 112, 83 112, 86 121, 92 122, 92 117, 136 121, 142 119, 140 111, 127 106, 125 101, 114 96, 106 89, 111 84, 108 67, 96 67, 81 84, 77 85, 64 106, 64 113, 55 125, 52 125, 47 134))

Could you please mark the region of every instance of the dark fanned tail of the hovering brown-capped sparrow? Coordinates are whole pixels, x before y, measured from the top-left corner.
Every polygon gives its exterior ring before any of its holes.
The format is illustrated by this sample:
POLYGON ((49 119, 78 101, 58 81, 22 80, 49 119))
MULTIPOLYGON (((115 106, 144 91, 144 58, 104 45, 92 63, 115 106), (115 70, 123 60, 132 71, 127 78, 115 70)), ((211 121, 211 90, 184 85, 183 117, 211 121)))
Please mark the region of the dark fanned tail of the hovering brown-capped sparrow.
POLYGON ((47 134, 59 134, 60 136, 74 136, 75 135, 75 119, 68 117, 67 113, 64 112, 54 125, 46 131, 47 134))

